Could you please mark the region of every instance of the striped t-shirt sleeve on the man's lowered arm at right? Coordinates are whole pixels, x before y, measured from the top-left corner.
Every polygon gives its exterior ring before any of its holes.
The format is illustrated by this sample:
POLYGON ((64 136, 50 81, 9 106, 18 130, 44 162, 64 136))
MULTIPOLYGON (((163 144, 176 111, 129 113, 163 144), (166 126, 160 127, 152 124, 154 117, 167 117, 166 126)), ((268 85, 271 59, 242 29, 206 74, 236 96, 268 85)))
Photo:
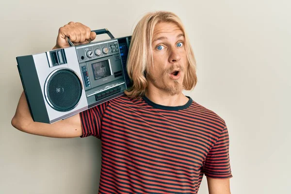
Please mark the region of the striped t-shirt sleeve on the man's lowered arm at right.
POLYGON ((229 136, 226 125, 216 143, 210 149, 203 171, 205 176, 210 178, 232 178, 229 161, 229 136))

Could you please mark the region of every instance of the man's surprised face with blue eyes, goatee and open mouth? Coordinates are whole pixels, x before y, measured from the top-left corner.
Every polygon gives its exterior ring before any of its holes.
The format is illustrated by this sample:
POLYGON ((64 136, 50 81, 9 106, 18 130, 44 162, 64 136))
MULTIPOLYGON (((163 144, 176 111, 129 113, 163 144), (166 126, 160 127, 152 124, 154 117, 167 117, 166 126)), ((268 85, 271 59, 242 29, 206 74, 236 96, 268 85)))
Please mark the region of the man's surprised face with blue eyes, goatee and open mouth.
POLYGON ((154 65, 149 66, 147 74, 149 85, 172 96, 182 92, 187 68, 184 42, 184 34, 177 24, 162 22, 155 26, 152 39, 154 65))

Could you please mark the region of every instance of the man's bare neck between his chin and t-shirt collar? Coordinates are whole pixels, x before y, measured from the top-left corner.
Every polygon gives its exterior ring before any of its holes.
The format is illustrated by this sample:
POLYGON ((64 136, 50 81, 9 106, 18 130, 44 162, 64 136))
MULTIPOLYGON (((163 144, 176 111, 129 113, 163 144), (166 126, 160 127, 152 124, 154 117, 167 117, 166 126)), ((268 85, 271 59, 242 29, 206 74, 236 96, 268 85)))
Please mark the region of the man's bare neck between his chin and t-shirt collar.
POLYGON ((146 90, 146 97, 152 102, 163 106, 183 106, 189 100, 182 92, 171 96, 169 93, 161 90, 146 90))

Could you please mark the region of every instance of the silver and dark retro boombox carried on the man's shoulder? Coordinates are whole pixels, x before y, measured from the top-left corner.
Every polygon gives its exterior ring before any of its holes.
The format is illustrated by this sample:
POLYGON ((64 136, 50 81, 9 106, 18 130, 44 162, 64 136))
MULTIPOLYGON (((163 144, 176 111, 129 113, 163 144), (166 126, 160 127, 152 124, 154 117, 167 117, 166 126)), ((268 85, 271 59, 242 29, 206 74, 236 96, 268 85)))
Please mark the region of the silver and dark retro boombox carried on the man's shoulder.
POLYGON ((124 94, 131 36, 16 57, 35 122, 53 123, 124 94))

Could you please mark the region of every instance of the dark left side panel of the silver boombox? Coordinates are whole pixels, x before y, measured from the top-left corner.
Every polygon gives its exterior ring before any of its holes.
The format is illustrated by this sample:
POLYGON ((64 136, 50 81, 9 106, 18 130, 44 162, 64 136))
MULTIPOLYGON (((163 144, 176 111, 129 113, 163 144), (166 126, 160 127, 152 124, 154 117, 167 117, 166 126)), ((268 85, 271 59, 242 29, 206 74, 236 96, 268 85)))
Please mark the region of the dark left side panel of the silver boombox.
POLYGON ((49 115, 32 55, 16 57, 16 60, 33 120, 35 122, 49 123, 49 115))

